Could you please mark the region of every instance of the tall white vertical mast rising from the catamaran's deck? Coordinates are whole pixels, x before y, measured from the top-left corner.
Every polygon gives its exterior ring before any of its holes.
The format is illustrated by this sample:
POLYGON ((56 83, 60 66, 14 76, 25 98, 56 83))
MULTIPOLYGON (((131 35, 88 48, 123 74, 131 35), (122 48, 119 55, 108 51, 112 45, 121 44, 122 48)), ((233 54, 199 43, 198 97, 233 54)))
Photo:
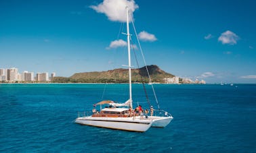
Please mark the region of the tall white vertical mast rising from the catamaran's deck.
POLYGON ((126 7, 126 25, 127 25, 127 48, 128 48, 128 67, 129 67, 129 95, 130 95, 130 106, 133 109, 133 100, 131 96, 131 51, 130 51, 130 33, 129 33, 129 14, 128 6, 126 7))

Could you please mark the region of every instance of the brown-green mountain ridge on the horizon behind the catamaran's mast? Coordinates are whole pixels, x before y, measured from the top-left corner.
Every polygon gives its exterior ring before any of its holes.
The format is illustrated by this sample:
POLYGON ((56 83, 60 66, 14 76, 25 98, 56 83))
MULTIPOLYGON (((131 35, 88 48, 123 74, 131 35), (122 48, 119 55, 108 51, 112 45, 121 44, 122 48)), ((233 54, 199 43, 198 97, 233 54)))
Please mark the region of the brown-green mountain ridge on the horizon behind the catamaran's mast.
MULTIPOLYGON (((157 65, 149 65, 148 72, 152 82, 164 82, 164 78, 173 78, 174 75, 166 73, 160 69, 157 65)), ((148 82, 148 74, 146 67, 140 69, 131 69, 131 80, 132 82, 148 82)), ((64 78, 54 78, 54 82, 62 82, 64 78)), ((68 82, 83 82, 83 83, 127 83, 129 82, 128 69, 113 69, 108 71, 92 71, 84 73, 74 73, 68 82)), ((66 82, 65 80, 64 82, 66 82)))

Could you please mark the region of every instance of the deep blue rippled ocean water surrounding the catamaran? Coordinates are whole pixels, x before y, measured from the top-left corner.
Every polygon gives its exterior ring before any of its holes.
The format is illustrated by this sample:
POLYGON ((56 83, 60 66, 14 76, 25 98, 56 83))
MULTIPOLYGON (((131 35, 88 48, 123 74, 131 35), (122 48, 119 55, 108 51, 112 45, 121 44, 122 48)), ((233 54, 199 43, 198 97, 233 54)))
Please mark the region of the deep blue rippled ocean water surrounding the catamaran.
MULTIPOLYGON (((142 85, 133 88, 146 109, 142 85)), ((125 102, 127 84, 0 84, 0 152, 256 152, 256 84, 154 88, 174 119, 136 133, 73 122, 102 98, 125 102)))

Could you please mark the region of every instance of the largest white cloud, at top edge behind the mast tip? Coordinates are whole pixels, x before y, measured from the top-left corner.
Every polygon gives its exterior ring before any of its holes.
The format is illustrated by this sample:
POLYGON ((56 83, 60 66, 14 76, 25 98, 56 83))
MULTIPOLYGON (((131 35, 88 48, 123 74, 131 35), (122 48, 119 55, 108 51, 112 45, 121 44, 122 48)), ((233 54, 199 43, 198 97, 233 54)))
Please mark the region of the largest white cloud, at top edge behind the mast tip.
MULTIPOLYGON (((133 16, 133 11, 139 8, 134 0, 104 0, 99 5, 93 5, 90 7, 98 13, 104 13, 111 21, 126 22, 125 7, 127 6, 129 6, 129 13, 131 13, 131 17, 133 16)), ((129 21, 131 21, 131 19, 129 19, 129 21)))

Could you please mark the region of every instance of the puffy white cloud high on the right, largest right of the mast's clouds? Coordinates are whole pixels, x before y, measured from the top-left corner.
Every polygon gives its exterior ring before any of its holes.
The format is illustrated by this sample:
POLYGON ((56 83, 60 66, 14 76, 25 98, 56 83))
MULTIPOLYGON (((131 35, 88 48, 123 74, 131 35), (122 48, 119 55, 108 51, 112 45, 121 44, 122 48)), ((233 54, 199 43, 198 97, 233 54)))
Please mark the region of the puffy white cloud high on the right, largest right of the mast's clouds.
POLYGON ((223 32, 218 38, 218 41, 222 44, 236 44, 237 40, 239 40, 239 36, 230 30, 223 32))

